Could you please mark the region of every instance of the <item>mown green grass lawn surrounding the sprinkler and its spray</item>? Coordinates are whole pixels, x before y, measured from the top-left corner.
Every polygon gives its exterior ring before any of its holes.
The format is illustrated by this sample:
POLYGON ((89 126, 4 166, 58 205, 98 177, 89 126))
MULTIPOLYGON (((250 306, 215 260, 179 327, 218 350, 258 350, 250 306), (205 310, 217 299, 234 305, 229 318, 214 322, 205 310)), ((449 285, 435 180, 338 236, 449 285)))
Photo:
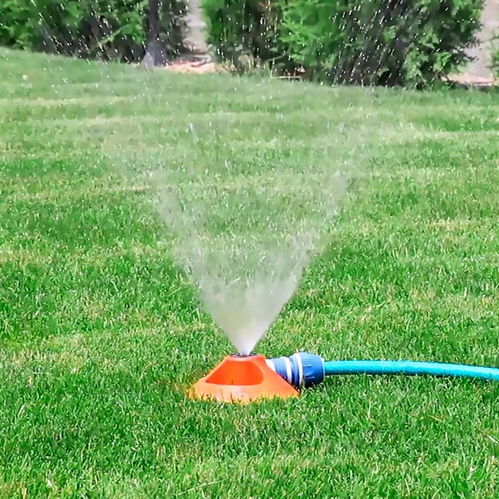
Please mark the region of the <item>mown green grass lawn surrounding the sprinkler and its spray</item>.
POLYGON ((498 366, 497 93, 11 51, 0 74, 0 497, 499 496, 497 383, 356 376, 292 401, 188 400, 232 349, 130 174, 161 163, 193 192, 213 172, 284 178, 282 194, 304 165, 353 162, 353 202, 258 351, 498 366))

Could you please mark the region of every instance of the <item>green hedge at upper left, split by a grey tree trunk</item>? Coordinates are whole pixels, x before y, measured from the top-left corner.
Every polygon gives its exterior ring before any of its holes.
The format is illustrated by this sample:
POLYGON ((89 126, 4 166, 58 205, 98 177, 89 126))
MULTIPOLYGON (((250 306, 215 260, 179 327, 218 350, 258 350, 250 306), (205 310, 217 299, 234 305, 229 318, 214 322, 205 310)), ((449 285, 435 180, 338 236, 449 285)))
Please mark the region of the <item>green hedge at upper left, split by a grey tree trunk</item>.
MULTIPOLYGON (((145 52, 147 0, 0 0, 0 45, 81 58, 138 61, 145 52)), ((162 38, 182 48, 184 0, 164 0, 162 38)))

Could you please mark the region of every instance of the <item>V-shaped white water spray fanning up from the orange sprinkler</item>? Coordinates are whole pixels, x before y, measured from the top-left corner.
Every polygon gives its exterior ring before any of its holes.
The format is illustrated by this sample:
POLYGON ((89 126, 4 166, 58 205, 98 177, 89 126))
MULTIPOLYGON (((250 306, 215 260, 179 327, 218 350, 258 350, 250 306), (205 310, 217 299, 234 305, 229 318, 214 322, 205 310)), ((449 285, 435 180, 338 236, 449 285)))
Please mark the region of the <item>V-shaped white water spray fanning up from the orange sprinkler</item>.
POLYGON ((238 353, 249 355, 326 242, 347 180, 314 165, 215 179, 163 168, 150 185, 176 261, 238 353))

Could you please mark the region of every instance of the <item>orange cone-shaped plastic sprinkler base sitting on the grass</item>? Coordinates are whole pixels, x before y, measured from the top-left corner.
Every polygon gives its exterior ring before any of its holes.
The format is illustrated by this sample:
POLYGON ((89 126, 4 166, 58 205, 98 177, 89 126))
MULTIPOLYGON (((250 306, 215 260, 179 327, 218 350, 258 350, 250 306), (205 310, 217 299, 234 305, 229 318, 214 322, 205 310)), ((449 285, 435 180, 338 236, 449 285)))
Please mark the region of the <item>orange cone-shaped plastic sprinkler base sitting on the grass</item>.
POLYGON ((230 355, 190 391, 191 398, 220 402, 250 402, 259 398, 297 397, 295 390, 267 366, 261 355, 230 355))

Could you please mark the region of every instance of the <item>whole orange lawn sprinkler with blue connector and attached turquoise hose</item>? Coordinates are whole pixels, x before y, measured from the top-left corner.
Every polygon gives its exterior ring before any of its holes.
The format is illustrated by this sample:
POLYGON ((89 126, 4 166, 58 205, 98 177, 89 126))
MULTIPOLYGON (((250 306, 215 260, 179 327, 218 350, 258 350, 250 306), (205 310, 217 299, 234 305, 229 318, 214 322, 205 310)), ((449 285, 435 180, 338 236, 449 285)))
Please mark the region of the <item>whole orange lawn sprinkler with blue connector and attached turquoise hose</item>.
POLYGON ((249 402, 259 398, 287 398, 299 390, 345 374, 404 374, 448 376, 499 381, 499 368, 422 361, 324 361, 319 355, 299 352, 289 357, 264 359, 261 355, 230 355, 197 381, 190 396, 225 402, 249 402))

